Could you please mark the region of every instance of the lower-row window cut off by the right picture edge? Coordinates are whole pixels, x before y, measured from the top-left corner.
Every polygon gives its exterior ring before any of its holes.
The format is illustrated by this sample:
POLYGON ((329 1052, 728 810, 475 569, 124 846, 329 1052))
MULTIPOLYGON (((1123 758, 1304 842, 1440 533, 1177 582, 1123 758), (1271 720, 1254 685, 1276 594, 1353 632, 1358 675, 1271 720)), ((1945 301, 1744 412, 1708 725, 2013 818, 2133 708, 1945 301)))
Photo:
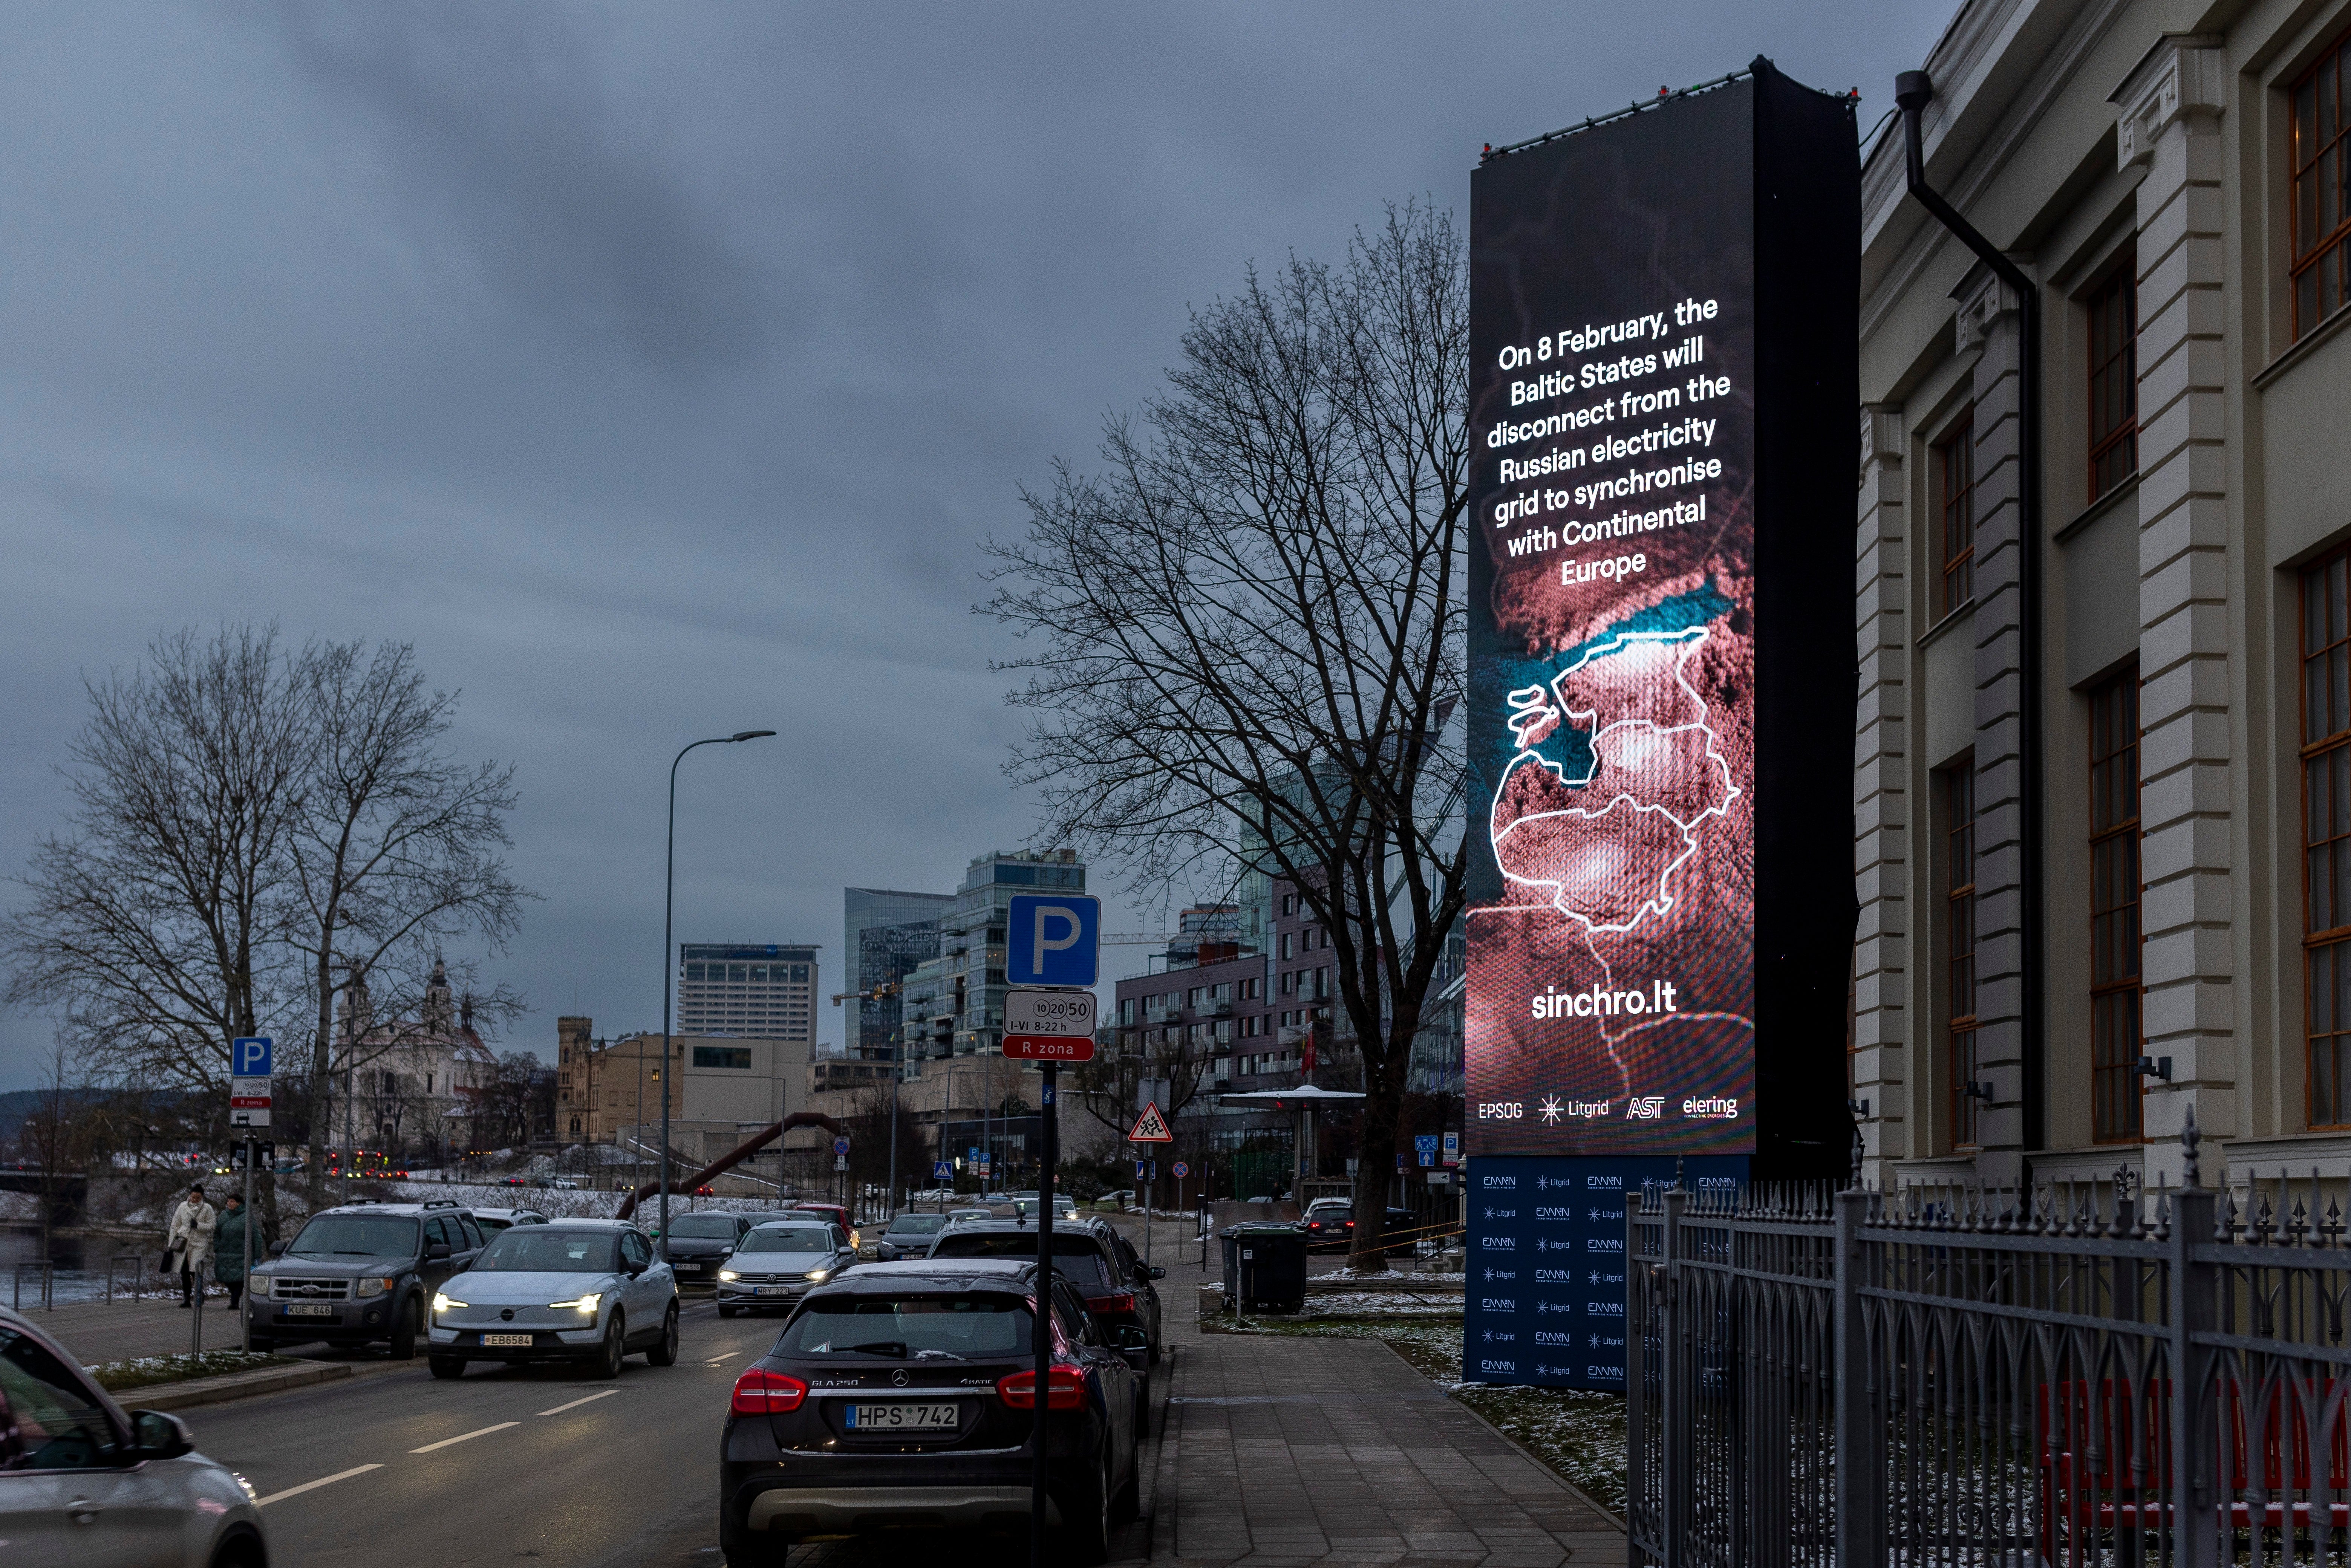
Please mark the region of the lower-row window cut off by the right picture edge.
POLYGON ((2302 574, 2302 947, 2311 1126, 2351 1124, 2351 552, 2302 574))

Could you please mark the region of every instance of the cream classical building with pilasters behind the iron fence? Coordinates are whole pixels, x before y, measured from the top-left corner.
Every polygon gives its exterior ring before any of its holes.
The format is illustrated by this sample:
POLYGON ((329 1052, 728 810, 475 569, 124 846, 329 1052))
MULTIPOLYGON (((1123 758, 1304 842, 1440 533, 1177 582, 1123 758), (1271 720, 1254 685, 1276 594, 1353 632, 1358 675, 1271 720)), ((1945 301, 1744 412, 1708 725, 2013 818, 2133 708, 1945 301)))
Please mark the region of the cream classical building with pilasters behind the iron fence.
POLYGON ((2351 0, 1968 0, 1862 172, 1864 1173, 2351 1173, 2351 0), (2191 31, 2193 28, 2193 31, 2191 31), (2024 301, 2038 306, 2029 517, 2024 301))

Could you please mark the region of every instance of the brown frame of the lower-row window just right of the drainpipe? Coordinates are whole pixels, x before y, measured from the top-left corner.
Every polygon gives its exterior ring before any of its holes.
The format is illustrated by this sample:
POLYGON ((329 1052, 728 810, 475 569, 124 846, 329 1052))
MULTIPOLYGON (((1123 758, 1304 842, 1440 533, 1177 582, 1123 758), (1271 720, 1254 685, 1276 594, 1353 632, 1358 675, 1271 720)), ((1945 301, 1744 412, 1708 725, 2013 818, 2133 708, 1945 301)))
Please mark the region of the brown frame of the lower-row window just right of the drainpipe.
POLYGON ((2137 1060, 2146 1048, 2146 865, 2142 856, 2139 813, 2139 665, 2132 661, 2090 689, 2090 1143, 2146 1143, 2146 1079, 2139 1077, 2137 1060), (2111 703, 2114 710, 2102 712, 2111 703), (2128 759, 2128 762, 2125 762, 2128 759), (2102 769, 2114 769, 2102 776, 2102 769), (2102 802, 2102 785, 2128 773, 2128 816, 2116 811, 2116 802, 2102 802), (2128 860, 2128 900, 2102 905, 2106 893, 2104 865, 2128 860), (2114 940, 2102 922, 2123 922, 2128 931, 2128 971, 2099 978, 2106 945, 2114 940), (2116 1060, 2109 1051, 2109 1020, 2130 1016, 2130 1048, 2116 1060), (2116 1074, 2123 1091, 2116 1091, 2116 1074), (2114 1105, 2109 1105, 2109 1098, 2114 1105), (2109 1112, 2128 1105, 2128 1117, 2109 1112))

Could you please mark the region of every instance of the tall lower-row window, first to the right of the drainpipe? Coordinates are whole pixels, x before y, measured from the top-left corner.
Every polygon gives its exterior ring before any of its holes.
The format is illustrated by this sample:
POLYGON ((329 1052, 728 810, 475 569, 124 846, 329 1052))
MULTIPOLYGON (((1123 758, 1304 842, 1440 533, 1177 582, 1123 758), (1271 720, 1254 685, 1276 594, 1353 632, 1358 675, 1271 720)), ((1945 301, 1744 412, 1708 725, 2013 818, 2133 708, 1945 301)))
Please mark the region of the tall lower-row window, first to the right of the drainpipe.
POLYGON ((2090 1135, 2137 1143, 2139 668, 2090 691, 2090 1135))

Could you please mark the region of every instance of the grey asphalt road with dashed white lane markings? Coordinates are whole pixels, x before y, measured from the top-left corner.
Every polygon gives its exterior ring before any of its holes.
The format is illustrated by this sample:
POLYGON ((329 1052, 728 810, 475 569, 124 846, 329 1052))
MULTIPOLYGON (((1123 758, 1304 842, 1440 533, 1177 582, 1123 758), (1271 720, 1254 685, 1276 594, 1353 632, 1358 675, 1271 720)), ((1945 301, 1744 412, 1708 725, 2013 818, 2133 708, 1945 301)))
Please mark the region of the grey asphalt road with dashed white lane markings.
MULTIPOLYGON (((510 1568, 527 1559, 710 1568, 719 1563, 726 1394, 778 1328, 781 1319, 719 1321, 710 1302, 689 1302, 677 1366, 630 1356, 611 1382, 574 1368, 487 1366, 435 1382, 418 1359, 355 1382, 188 1410, 188 1422, 202 1453, 261 1493, 280 1568, 510 1568)), ((1152 1460, 1145 1453, 1145 1469, 1152 1460)), ((1128 1526, 1112 1559, 1143 1554, 1140 1528, 1128 1526)), ((884 1535, 792 1554, 792 1568, 905 1561, 1018 1568, 1027 1542, 884 1535)))

